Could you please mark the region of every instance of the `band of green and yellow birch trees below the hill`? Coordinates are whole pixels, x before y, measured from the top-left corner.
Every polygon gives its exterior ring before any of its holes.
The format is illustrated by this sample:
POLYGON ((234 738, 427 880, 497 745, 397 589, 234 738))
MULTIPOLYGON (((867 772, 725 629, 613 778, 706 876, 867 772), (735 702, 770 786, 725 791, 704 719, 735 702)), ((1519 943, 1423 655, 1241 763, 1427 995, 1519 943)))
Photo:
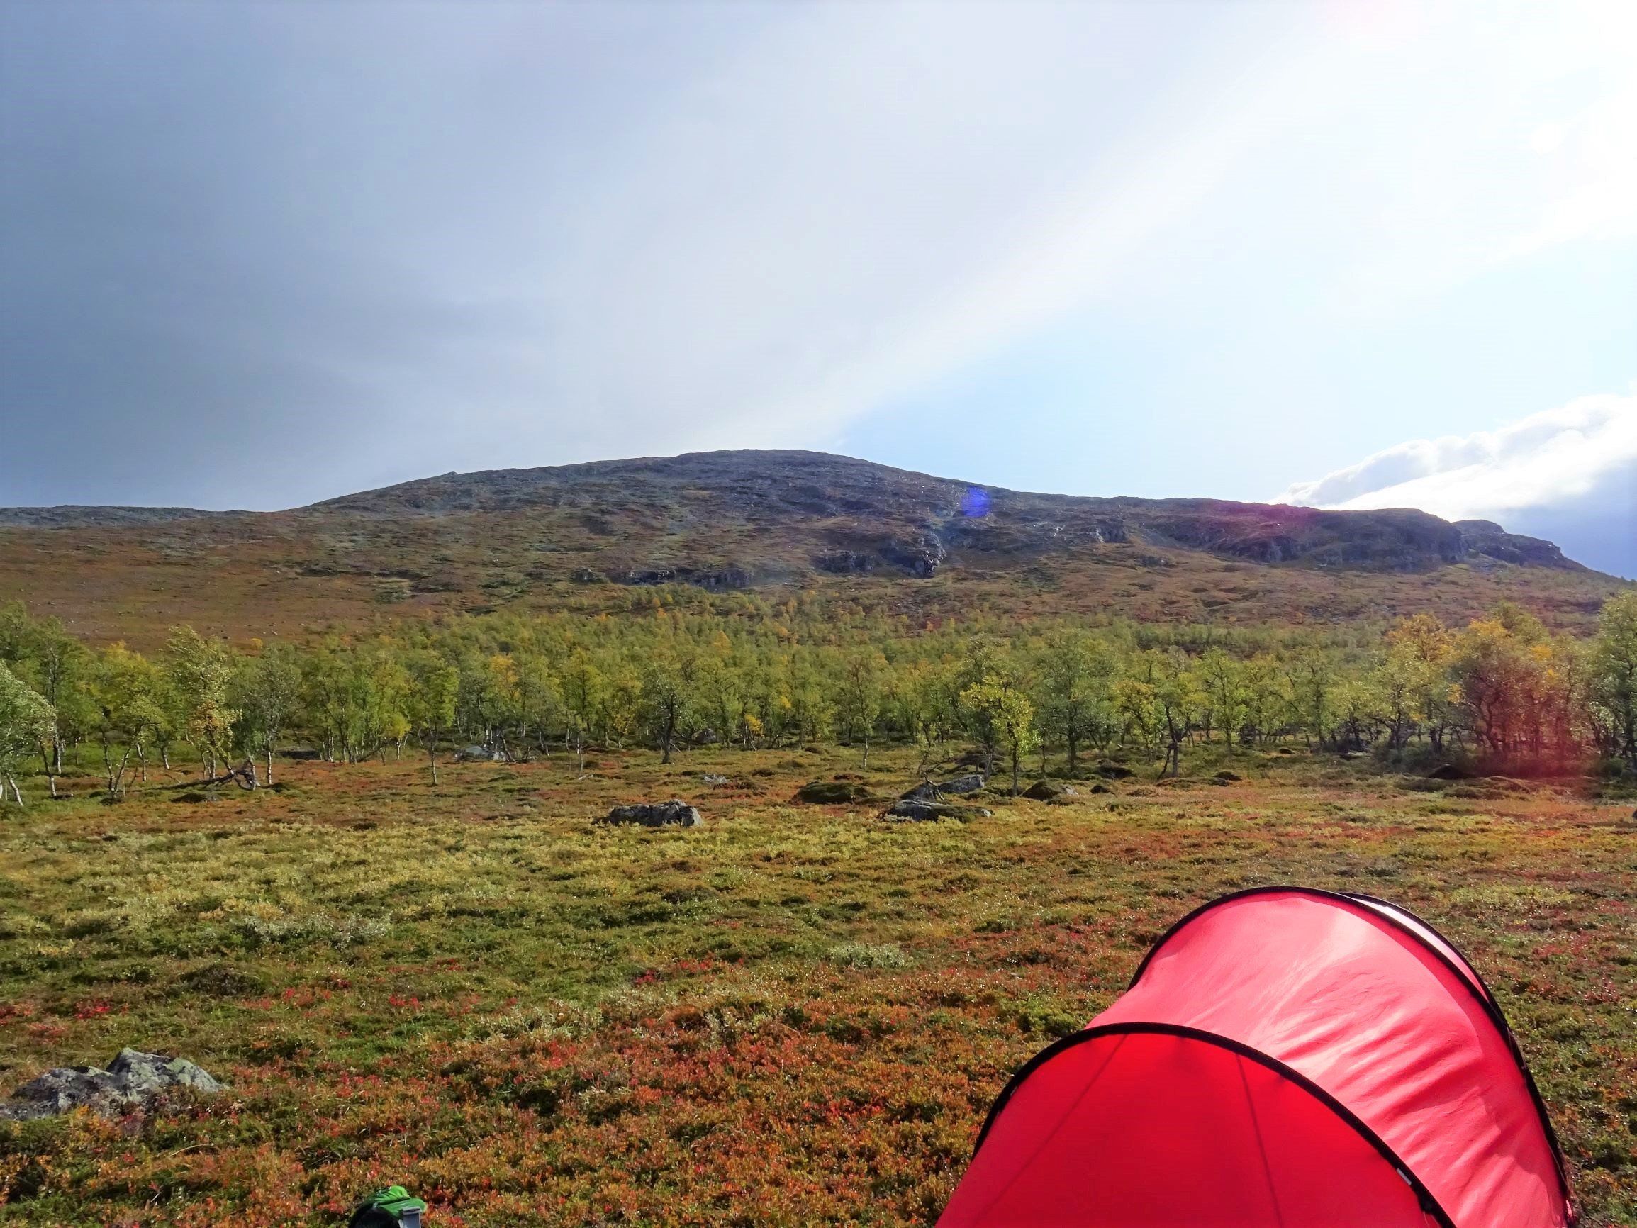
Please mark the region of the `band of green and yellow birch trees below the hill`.
POLYGON ((915 624, 837 598, 701 604, 656 589, 629 614, 401 622, 308 645, 175 627, 157 655, 90 648, 21 604, 0 609, 0 779, 100 761, 121 794, 182 755, 205 779, 272 781, 296 743, 332 761, 403 755, 437 776, 449 747, 527 760, 645 743, 837 740, 922 770, 976 748, 1010 773, 1058 756, 1146 756, 1175 774, 1197 745, 1301 742, 1383 761, 1511 771, 1593 760, 1637 770, 1637 591, 1593 637, 1503 604, 1465 627, 1419 614, 1378 630, 1256 632, 1074 621, 915 624), (79 758, 75 758, 79 756, 79 758))

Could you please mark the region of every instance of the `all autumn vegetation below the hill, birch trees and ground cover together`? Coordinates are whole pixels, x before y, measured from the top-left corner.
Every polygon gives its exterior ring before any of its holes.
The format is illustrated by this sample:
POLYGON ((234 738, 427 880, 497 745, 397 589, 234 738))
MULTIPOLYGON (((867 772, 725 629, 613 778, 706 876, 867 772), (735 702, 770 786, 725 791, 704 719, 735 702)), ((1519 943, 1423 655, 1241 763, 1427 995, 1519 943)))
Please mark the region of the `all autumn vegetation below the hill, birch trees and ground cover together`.
POLYGON ((229 1090, 0 1123, 7 1220, 931 1223, 1020 1061, 1280 881, 1462 945, 1588 1221, 1637 1218, 1637 593, 1583 635, 640 596, 147 655, 8 607, 0 1074, 229 1090), (877 817, 958 763, 992 814, 877 817), (591 822, 671 796, 704 825, 591 822))

